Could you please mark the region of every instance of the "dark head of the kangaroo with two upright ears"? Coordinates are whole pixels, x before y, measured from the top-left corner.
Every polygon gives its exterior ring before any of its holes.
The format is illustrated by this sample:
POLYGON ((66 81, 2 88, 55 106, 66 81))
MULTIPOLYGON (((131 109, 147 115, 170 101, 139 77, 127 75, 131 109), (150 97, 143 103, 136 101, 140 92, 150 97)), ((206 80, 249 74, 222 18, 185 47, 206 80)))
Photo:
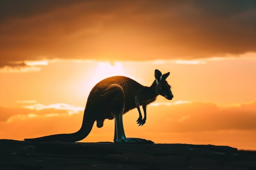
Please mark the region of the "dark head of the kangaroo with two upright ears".
POLYGON ((170 72, 162 73, 159 70, 155 70, 155 79, 157 82, 157 87, 155 91, 157 94, 164 96, 166 99, 173 99, 173 93, 171 92, 171 86, 166 82, 166 78, 170 75, 170 72))

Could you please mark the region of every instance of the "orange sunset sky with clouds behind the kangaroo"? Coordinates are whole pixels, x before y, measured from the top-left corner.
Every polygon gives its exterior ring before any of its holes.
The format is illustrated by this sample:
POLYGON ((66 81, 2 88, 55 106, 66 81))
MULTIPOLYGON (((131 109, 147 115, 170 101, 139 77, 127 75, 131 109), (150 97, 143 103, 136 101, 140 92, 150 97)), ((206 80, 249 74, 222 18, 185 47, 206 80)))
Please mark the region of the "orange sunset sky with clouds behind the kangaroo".
MULTIPOLYGON (((256 2, 0 0, 0 138, 79 130, 102 79, 170 72, 173 100, 126 136, 256 150, 256 2)), ((114 121, 83 142, 113 141, 114 121)))

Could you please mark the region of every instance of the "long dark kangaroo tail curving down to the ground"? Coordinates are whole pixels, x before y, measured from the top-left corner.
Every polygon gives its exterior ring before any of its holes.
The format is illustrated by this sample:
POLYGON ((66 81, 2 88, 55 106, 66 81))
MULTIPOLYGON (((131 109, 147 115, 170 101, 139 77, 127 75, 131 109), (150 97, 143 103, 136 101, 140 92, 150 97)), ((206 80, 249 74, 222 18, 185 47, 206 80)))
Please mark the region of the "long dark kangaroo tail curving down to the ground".
MULTIPOLYGON (((85 109, 86 110, 86 109, 85 109)), ((88 136, 90 131, 92 130, 92 126, 94 124, 95 119, 92 119, 86 112, 83 115, 83 124, 80 130, 74 133, 69 134, 56 134, 49 135, 44 137, 37 137, 31 139, 24 139, 25 141, 81 141, 85 137, 88 136)))

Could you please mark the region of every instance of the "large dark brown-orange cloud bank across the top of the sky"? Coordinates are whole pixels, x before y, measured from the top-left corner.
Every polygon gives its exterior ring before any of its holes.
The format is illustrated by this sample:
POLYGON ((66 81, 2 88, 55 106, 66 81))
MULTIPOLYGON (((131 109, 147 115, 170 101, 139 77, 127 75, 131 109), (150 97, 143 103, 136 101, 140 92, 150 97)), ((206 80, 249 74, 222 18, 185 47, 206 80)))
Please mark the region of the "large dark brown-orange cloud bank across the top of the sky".
POLYGON ((256 51, 253 0, 9 0, 1 7, 0 67, 45 58, 184 60, 256 51))

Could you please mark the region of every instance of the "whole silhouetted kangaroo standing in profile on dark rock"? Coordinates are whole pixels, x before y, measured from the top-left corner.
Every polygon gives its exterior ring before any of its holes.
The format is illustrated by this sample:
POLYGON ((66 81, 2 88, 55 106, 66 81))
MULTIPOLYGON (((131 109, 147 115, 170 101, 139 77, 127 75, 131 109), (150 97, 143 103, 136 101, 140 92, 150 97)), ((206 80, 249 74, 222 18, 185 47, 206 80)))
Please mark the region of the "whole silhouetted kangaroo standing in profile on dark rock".
POLYGON ((83 123, 77 132, 70 134, 57 134, 44 137, 24 139, 25 141, 81 141, 88 136, 92 126, 97 121, 101 128, 105 119, 115 118, 115 143, 154 144, 141 138, 127 138, 124 133, 123 114, 137 108, 139 118, 137 124, 142 126, 146 122, 146 106, 156 100, 158 95, 171 100, 173 94, 171 86, 166 82, 170 72, 162 73, 155 70, 155 80, 150 87, 143 86, 133 79, 124 76, 108 77, 97 83, 91 90, 85 106, 83 123), (139 106, 142 106, 144 118, 142 119, 139 106))

